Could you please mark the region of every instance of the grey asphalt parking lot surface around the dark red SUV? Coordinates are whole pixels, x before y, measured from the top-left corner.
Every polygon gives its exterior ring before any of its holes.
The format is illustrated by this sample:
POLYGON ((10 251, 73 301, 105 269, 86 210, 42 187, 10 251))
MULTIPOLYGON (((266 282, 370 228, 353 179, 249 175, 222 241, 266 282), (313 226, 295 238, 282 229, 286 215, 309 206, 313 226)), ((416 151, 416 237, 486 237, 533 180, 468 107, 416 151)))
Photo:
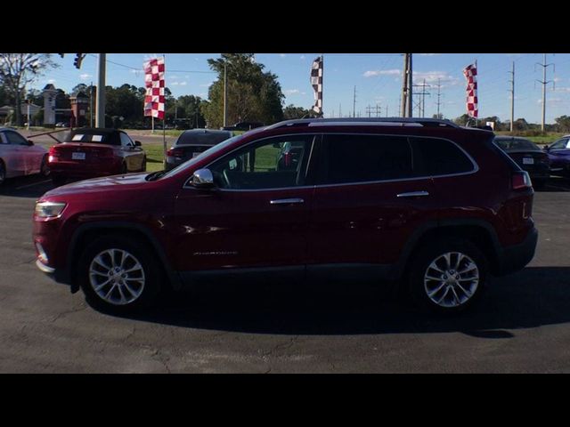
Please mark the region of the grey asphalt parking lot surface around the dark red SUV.
POLYGON ((570 181, 535 195, 533 262, 454 318, 350 284, 178 294, 138 318, 105 315, 34 265, 31 214, 50 188, 0 189, 2 373, 570 372, 570 181))

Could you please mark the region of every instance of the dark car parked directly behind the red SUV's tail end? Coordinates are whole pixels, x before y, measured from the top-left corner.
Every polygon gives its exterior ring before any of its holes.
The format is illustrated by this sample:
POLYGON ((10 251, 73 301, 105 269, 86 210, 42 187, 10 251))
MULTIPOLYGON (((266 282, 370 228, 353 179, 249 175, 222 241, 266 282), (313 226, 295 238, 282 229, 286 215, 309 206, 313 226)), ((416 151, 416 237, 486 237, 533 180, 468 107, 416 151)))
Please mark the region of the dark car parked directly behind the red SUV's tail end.
POLYGON ((534 187, 544 187, 550 178, 550 159, 538 145, 514 136, 495 136, 495 143, 517 162, 521 169, 528 172, 534 187))

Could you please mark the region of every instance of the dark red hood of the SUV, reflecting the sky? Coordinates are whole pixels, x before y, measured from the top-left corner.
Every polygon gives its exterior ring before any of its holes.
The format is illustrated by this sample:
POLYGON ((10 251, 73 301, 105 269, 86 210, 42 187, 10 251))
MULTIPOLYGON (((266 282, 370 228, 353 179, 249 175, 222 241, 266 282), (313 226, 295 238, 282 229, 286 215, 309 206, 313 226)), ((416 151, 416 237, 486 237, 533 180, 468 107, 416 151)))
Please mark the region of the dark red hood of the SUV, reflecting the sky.
POLYGON ((138 189, 139 186, 149 183, 149 181, 145 180, 148 175, 148 172, 128 173, 126 175, 113 175, 72 182, 48 191, 44 197, 63 196, 70 193, 106 193, 109 189, 118 189, 118 187, 124 189, 137 187, 138 189))

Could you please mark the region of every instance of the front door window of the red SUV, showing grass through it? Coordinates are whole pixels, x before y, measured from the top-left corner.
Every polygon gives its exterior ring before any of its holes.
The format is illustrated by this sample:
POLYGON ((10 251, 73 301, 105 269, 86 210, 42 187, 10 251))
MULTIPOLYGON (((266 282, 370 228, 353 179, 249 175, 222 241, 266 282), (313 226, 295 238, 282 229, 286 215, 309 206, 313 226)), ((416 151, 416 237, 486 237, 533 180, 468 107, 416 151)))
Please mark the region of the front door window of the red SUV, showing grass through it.
POLYGON ((221 189, 282 189, 305 184, 314 135, 268 138, 248 144, 209 166, 221 189))

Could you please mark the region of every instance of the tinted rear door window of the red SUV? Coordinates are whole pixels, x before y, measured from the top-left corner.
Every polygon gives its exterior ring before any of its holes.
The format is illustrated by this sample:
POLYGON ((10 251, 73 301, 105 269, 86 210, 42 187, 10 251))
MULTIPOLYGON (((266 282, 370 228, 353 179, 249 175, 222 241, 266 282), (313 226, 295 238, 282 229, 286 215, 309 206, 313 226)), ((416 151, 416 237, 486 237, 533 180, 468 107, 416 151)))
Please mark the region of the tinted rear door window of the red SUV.
POLYGON ((378 135, 324 135, 319 184, 384 181, 414 175, 408 139, 378 135))

